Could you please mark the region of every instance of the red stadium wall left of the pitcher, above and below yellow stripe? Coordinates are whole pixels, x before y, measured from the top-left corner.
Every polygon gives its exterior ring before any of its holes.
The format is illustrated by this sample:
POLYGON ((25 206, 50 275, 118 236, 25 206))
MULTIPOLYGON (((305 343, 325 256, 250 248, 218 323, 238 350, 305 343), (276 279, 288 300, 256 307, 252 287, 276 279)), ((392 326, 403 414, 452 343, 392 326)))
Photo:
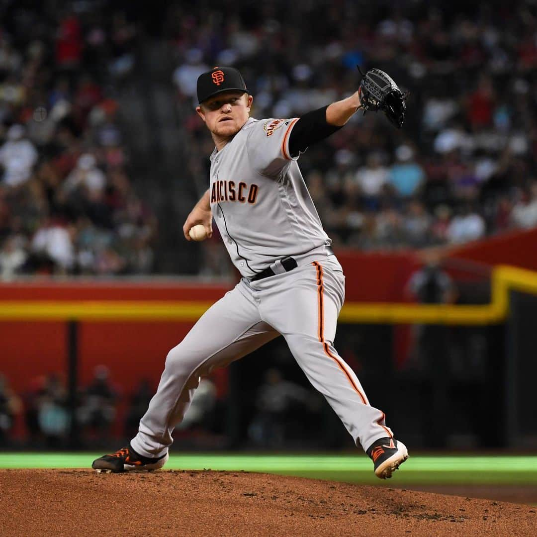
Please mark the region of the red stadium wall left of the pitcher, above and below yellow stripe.
MULTIPOLYGON (((50 301, 54 303, 121 301, 129 307, 151 301, 193 301, 212 303, 231 284, 202 284, 192 280, 177 284, 151 281, 143 283, 98 282, 12 282, 0 285, 0 304, 21 306, 50 301)), ((1 308, 2 306, 0 306, 1 308)), ((32 308, 32 306, 29 306, 32 308)), ((5 313, 5 308, 4 308, 5 313)), ((31 314, 31 311, 28 312, 31 314)), ((78 326, 79 383, 92 378, 93 368, 106 364, 112 378, 120 378, 127 391, 141 378, 156 384, 162 373, 166 353, 190 330, 193 321, 135 323, 125 321, 81 321, 78 326), (125 367, 128 363, 129 367, 125 367)), ((35 376, 65 372, 67 364, 67 323, 64 320, 9 320, 0 322, 0 371, 12 387, 24 391, 35 376)))

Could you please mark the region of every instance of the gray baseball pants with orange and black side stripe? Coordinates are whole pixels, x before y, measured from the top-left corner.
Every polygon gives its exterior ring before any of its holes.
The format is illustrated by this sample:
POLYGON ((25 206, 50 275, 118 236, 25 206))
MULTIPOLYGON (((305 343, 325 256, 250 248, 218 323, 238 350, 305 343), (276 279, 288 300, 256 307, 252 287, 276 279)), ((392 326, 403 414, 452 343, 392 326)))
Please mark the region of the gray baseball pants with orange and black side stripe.
POLYGON ((200 376, 280 334, 357 445, 367 449, 393 436, 384 413, 369 404, 357 376, 333 347, 344 296, 345 277, 335 256, 258 281, 243 278, 168 353, 157 392, 131 442, 134 450, 149 457, 166 453, 200 376))

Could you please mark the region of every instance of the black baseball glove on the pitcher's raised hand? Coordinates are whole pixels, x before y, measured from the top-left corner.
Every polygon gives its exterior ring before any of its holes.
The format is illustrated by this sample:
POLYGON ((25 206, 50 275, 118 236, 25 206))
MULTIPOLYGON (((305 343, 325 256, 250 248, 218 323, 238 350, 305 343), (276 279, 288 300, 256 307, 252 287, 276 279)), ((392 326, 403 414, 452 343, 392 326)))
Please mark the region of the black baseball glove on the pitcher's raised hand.
POLYGON ((362 79, 358 88, 360 108, 376 112, 381 110, 386 117, 398 128, 403 126, 404 113, 407 110, 405 99, 408 93, 403 93, 391 77, 380 69, 369 69, 362 73, 357 66, 362 79))

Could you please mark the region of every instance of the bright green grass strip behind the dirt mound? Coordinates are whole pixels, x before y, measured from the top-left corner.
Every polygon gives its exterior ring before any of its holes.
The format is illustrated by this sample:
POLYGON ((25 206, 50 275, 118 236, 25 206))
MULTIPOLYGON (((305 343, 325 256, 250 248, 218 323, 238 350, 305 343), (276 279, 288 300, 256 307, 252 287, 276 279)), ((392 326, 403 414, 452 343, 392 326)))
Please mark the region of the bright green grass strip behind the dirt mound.
MULTIPOLYGON (((0 468, 89 468, 98 453, 0 453, 0 468)), ((235 470, 379 484, 363 455, 173 454, 168 470, 235 470)), ((389 485, 537 485, 537 456, 412 455, 389 485)))

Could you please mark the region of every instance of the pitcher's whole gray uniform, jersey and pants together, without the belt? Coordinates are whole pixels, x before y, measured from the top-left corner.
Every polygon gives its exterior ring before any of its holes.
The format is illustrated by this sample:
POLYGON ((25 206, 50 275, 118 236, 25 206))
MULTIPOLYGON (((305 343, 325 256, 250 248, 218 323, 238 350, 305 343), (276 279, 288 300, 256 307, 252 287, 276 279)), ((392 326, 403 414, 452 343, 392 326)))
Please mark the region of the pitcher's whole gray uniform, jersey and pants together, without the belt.
POLYGON ((289 155, 296 121, 250 119, 211 155, 211 208, 243 278, 168 353, 157 393, 131 442, 141 455, 167 452, 200 375, 278 335, 357 445, 367 449, 392 437, 384 413, 369 404, 357 376, 333 347, 345 277, 296 158, 289 155), (286 256, 296 260, 287 272, 278 265, 286 256), (269 266, 274 275, 252 279, 269 266))

